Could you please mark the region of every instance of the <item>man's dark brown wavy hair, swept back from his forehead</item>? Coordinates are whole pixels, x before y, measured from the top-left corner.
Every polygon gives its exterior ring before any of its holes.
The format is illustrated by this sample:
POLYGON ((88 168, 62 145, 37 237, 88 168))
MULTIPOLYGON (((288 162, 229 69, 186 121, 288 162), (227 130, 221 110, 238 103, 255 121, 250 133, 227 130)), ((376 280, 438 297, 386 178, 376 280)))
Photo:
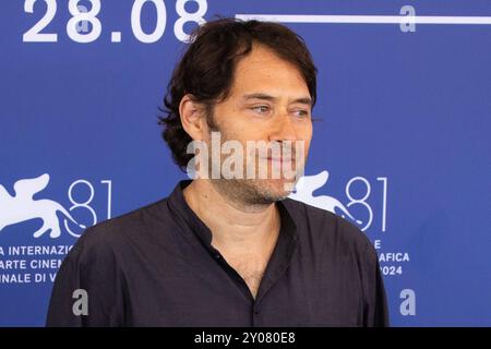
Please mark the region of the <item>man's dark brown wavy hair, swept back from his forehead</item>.
MULTIPOLYGON (((272 49, 278 57, 292 63, 302 74, 312 98, 316 98, 316 68, 304 40, 288 27, 271 22, 218 19, 199 26, 192 34, 192 44, 176 67, 164 98, 158 124, 164 127, 175 163, 185 171, 194 154, 188 154, 192 141, 184 131, 179 104, 187 94, 205 106, 208 122, 213 106, 230 92, 233 71, 240 58, 252 50, 252 44, 272 49)), ((213 120, 212 120, 213 121, 213 120)))

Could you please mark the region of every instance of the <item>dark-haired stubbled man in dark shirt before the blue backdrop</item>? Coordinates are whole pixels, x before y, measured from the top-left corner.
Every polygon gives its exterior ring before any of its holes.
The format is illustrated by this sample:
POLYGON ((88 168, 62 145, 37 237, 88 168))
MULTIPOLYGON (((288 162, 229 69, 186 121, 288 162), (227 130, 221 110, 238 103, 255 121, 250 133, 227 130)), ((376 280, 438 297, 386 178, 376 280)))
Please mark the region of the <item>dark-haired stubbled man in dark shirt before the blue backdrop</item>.
POLYGON ((161 119, 176 163, 195 179, 87 229, 58 273, 47 324, 387 325, 369 240, 343 218, 286 198, 312 137, 315 74, 304 43, 285 26, 201 26, 161 119), (225 166, 227 142, 244 151, 225 166), (256 153, 248 142, 270 147, 256 153), (291 167, 295 176, 274 176, 291 167))

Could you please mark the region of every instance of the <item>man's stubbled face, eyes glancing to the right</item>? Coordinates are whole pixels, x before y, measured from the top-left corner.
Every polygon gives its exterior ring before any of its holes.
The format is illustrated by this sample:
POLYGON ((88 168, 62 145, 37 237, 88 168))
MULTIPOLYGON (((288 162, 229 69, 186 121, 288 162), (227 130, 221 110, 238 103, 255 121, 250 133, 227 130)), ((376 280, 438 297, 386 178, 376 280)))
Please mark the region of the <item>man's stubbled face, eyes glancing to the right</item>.
POLYGON ((279 178, 275 179, 273 168, 288 166, 303 171, 312 139, 311 96, 295 65, 267 47, 254 45, 251 53, 238 62, 228 97, 215 105, 213 123, 220 132, 221 142, 236 140, 242 144, 244 172, 251 160, 256 161, 256 174, 261 166, 267 166, 266 179, 259 176, 255 179, 223 179, 213 181, 216 185, 250 204, 267 204, 288 196, 287 188, 292 186, 297 178, 285 178, 280 171, 279 178), (276 145, 290 143, 288 148, 292 156, 280 154, 277 157, 270 152, 264 158, 255 149, 248 154, 248 141, 276 145), (296 144, 303 148, 297 163, 296 144))

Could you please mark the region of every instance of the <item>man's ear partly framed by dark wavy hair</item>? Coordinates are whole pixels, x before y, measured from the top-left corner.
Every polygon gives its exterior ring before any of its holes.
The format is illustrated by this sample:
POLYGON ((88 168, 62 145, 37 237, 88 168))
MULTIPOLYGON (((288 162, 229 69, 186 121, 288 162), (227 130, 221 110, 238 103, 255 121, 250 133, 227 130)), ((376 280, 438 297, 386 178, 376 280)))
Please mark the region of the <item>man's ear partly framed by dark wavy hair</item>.
POLYGON ((192 95, 187 94, 179 104, 179 115, 184 131, 193 141, 203 141, 208 132, 205 107, 194 101, 192 95))

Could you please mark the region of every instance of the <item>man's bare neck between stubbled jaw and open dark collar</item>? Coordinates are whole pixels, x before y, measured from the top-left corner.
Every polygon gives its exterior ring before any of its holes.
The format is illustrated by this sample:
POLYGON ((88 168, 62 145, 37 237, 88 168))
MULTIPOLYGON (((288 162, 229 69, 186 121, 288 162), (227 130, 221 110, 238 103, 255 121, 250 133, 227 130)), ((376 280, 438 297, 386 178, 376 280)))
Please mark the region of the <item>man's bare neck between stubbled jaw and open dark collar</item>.
POLYGON ((192 181, 183 195, 191 209, 212 231, 212 243, 218 250, 231 254, 248 250, 261 253, 262 250, 271 250, 276 242, 279 213, 274 203, 248 205, 220 192, 209 180, 192 181))

